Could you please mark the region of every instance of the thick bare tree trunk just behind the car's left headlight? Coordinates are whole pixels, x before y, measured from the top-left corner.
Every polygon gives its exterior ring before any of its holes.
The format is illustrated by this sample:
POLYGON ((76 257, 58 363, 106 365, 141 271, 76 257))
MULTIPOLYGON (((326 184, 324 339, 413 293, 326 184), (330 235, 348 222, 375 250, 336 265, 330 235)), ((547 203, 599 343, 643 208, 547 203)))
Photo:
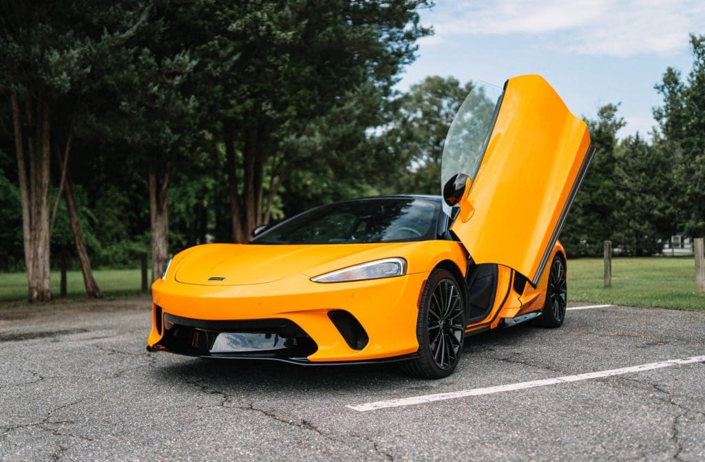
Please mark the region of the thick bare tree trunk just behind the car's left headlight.
POLYGON ((152 231, 152 281, 161 277, 168 262, 168 174, 166 166, 149 167, 149 221, 152 231))

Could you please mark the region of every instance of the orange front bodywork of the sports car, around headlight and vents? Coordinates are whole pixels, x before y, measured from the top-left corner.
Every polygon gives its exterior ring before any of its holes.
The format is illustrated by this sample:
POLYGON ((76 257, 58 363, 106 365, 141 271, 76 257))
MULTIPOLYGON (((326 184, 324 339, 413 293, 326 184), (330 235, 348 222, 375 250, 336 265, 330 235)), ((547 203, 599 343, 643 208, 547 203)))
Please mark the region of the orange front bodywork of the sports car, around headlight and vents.
MULTIPOLYGON (((166 279, 158 279, 152 285, 153 308, 159 305, 168 314, 200 320, 291 320, 317 343, 318 350, 308 357, 312 362, 388 358, 418 349, 417 303, 431 270, 448 260, 462 274, 467 260, 462 245, 454 241, 286 245, 286 248, 284 252, 282 245, 209 244, 186 250, 174 257, 166 279), (243 271, 257 268, 266 261, 263 260, 266 255, 274 259, 278 255, 277 271, 286 274, 286 268, 281 267, 288 265, 289 276, 238 285, 227 284, 228 279, 207 281, 207 277, 201 277, 203 284, 176 280, 193 279, 197 274, 221 274, 217 271, 229 268, 226 262, 237 261, 243 271), (309 279, 332 269, 386 257, 404 257, 409 262, 407 274, 337 284, 319 284, 309 279), (181 268, 186 261, 192 262, 188 271, 181 268), (352 313, 367 331, 367 346, 360 351, 350 348, 329 319, 331 310, 352 313)), ((255 270, 249 277, 255 280, 263 274, 255 270)), ((160 338, 153 325, 147 344, 154 346, 160 338)))

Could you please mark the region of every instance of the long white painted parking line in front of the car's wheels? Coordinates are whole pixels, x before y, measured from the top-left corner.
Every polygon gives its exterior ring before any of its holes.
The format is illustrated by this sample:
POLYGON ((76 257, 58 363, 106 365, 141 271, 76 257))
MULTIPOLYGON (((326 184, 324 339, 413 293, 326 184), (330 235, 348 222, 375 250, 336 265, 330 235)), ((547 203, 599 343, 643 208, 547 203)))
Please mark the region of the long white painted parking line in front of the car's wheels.
POLYGON ((610 377, 612 375, 629 374, 630 372, 644 372, 645 370, 661 369, 675 365, 705 363, 705 355, 692 356, 691 358, 671 359, 660 363, 649 363, 631 367, 621 367, 620 369, 601 370, 598 372, 587 372, 586 374, 564 375, 553 379, 532 380, 531 382, 519 382, 516 384, 498 385, 496 387, 475 388, 470 390, 450 391, 448 393, 427 394, 412 396, 410 398, 390 399, 387 401, 374 401, 374 403, 358 404, 357 406, 346 406, 354 411, 374 411, 376 409, 397 408, 400 406, 412 406, 414 404, 431 403, 433 401, 443 401, 446 399, 465 398, 465 396, 480 396, 484 394, 495 394, 503 391, 522 390, 534 387, 544 387, 545 385, 562 384, 566 382, 578 382, 580 380, 596 379, 599 377, 610 377))

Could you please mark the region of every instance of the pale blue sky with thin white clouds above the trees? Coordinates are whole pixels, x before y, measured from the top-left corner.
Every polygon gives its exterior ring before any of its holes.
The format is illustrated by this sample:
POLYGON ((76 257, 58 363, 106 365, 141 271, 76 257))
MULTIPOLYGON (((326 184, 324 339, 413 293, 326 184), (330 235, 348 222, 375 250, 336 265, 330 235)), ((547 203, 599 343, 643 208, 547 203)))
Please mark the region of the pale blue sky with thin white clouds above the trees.
POLYGON ((705 34, 705 0, 436 0, 420 16, 435 33, 419 40, 398 90, 428 75, 501 87, 537 73, 577 116, 594 118, 602 105, 621 103, 620 137, 656 126, 654 85, 668 66, 685 79, 688 34, 705 34))

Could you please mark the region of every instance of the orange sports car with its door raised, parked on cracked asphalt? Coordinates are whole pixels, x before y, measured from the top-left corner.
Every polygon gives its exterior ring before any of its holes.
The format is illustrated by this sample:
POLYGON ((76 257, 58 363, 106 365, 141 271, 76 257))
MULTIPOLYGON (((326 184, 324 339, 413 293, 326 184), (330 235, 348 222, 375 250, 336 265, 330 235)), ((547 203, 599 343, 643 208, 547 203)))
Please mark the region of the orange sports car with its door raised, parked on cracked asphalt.
POLYGON ((443 195, 324 205, 247 244, 178 253, 152 285, 149 351, 300 364, 401 361, 446 377, 466 336, 563 323, 558 233, 594 149, 539 75, 476 85, 448 130, 443 195))

